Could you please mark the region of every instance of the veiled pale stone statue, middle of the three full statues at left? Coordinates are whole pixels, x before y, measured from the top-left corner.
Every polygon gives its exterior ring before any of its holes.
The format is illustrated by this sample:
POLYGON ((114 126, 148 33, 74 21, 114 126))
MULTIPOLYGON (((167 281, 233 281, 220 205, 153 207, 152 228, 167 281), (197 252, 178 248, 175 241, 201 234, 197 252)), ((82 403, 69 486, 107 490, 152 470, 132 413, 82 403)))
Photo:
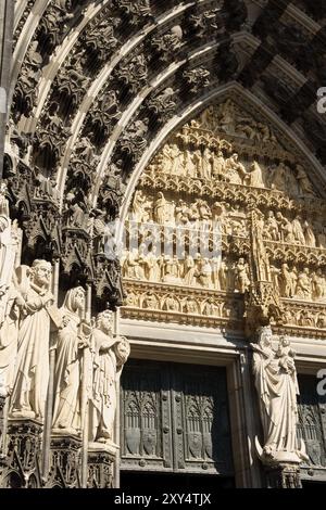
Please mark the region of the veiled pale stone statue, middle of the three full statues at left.
MULTIPOLYGON (((77 286, 67 291, 60 313, 63 327, 54 339, 54 404, 52 426, 60 434, 77 434, 80 430, 80 383, 83 348, 88 345, 85 291, 77 286), (84 326, 84 328, 83 328, 84 326)), ((90 333, 90 331, 89 331, 90 333)))

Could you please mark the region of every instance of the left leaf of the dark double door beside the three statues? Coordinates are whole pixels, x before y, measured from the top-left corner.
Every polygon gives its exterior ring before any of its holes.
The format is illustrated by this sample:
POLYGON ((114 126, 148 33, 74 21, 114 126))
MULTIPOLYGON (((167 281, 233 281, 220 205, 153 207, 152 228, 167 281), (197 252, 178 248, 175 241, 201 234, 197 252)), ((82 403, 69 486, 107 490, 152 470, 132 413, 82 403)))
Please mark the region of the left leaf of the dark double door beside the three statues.
POLYGON ((121 398, 124 469, 173 469, 167 375, 164 365, 134 361, 125 367, 121 398))

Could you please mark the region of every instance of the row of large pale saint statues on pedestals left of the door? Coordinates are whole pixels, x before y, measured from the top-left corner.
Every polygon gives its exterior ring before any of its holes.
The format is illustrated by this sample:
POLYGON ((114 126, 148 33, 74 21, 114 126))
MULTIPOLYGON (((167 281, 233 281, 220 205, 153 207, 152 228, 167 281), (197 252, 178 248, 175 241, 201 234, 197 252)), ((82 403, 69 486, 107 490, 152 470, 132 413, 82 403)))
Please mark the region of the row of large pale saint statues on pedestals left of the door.
POLYGON ((80 434, 89 419, 90 441, 112 439, 115 382, 129 355, 128 341, 113 335, 110 310, 93 321, 85 318, 82 286, 68 290, 57 308, 51 273, 45 260, 18 266, 1 295, 0 392, 9 399, 9 417, 43 421, 54 349, 53 432, 80 434), (83 399, 89 401, 88 418, 80 415, 83 399))

